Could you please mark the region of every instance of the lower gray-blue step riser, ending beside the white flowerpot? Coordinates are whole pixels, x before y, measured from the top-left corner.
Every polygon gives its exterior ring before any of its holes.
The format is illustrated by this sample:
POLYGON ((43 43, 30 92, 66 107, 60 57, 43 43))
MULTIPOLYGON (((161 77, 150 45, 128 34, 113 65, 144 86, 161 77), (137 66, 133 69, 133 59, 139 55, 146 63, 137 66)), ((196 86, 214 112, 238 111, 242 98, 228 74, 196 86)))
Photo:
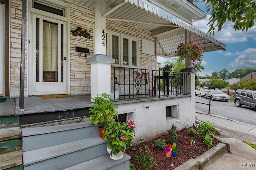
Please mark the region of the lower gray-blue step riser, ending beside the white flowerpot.
POLYGON ((60 170, 108 154, 106 143, 24 166, 24 170, 60 170))

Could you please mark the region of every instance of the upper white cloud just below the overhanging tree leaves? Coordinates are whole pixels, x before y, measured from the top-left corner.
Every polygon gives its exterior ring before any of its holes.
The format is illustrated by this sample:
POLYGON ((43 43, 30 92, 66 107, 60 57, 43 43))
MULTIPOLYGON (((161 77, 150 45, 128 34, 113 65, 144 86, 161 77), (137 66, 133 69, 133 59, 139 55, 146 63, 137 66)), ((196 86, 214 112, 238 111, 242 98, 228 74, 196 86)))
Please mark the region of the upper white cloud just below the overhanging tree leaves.
MULTIPOLYGON (((193 26, 199 28, 203 32, 208 32, 209 26, 207 26, 206 24, 209 22, 209 18, 210 15, 207 15, 207 17, 204 20, 194 22, 193 26)), ((248 38, 252 38, 256 41, 256 24, 252 28, 249 28, 247 32, 235 31, 233 26, 233 22, 227 22, 222 26, 220 32, 217 32, 216 28, 214 32, 214 38, 224 43, 246 42, 248 38)))

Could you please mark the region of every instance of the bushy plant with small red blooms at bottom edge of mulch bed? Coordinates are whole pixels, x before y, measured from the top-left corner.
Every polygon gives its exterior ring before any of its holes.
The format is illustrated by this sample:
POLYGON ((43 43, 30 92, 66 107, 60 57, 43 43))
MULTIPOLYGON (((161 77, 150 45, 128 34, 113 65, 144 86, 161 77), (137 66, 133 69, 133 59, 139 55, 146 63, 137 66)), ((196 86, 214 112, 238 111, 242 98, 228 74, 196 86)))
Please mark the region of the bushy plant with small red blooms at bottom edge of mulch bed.
POLYGON ((156 164, 154 152, 150 151, 148 146, 145 146, 145 150, 142 150, 140 147, 137 155, 135 156, 135 160, 142 170, 152 170, 153 165, 156 164))

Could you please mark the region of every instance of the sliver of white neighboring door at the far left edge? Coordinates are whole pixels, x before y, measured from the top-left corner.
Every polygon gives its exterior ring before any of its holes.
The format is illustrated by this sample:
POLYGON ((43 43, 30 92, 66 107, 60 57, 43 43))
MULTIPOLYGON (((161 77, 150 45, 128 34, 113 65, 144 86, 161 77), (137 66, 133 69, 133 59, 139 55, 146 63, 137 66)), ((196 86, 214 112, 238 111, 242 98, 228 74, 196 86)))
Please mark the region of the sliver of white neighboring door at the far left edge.
POLYGON ((4 5, 1 4, 0 18, 0 95, 4 96, 4 5))

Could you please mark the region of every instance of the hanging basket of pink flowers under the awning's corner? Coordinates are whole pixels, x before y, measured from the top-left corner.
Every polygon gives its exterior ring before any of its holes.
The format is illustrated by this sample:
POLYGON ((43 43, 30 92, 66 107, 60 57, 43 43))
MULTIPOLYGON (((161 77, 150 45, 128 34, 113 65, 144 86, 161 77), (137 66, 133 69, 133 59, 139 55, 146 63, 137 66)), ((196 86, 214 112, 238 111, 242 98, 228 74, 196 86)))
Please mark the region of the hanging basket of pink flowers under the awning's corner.
POLYGON ((180 56, 180 60, 188 59, 188 65, 194 65, 196 61, 202 61, 203 48, 198 44, 198 40, 194 39, 188 43, 180 43, 175 53, 180 56))

